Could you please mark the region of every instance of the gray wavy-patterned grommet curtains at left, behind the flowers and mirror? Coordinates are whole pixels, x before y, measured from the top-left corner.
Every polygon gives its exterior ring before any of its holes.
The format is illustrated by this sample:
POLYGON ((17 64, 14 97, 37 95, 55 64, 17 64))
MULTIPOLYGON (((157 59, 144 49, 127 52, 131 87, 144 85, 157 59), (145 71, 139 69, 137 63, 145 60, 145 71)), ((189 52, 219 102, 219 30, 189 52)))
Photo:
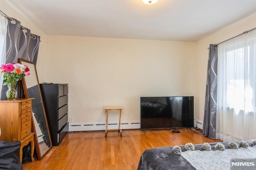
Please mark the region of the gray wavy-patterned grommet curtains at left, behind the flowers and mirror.
MULTIPOLYGON (((36 63, 40 36, 30 33, 30 29, 22 27, 20 21, 8 19, 6 35, 6 64, 17 63, 18 58, 36 63)), ((0 84, 2 86, 2 84, 0 84)), ((2 86, 1 100, 6 100, 7 86, 2 86)), ((18 89, 16 88, 18 91, 18 89)))

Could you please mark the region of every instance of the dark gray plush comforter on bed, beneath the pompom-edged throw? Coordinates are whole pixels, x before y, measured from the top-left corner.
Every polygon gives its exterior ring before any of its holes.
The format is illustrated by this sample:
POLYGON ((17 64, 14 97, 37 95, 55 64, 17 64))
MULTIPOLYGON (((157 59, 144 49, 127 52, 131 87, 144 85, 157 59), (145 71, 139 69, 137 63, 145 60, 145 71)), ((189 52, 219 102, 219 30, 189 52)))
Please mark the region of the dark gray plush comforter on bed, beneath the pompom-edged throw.
MULTIPOLYGON (((250 141, 247 141, 251 145, 250 141)), ((214 150, 216 143, 209 143, 214 150)), ((228 149, 228 142, 223 143, 228 149)), ((194 145, 195 150, 203 150, 202 144, 194 145)), ((182 152, 186 151, 180 146, 182 152)), ((200 160, 198 160, 200 161, 200 160)), ((174 154, 172 147, 160 147, 145 150, 138 164, 138 170, 195 170, 195 168, 181 155, 174 154)))

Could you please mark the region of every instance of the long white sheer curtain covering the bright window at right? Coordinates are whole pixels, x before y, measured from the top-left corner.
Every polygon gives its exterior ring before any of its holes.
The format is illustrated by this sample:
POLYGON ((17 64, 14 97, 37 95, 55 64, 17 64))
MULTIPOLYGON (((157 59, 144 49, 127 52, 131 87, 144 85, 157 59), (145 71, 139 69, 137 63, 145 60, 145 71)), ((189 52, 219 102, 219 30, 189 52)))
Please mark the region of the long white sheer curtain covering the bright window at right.
POLYGON ((218 45, 216 138, 256 139, 256 30, 218 45))

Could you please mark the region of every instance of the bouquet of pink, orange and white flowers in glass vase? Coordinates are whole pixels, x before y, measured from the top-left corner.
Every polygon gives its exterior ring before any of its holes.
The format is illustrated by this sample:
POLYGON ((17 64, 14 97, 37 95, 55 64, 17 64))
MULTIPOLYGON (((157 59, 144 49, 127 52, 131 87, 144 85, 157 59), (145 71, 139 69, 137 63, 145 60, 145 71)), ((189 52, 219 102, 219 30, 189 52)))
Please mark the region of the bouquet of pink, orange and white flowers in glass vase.
POLYGON ((19 80, 30 74, 29 68, 28 66, 22 65, 20 63, 2 64, 0 68, 1 73, 4 74, 3 80, 5 82, 3 85, 8 86, 8 90, 6 91, 6 98, 7 100, 15 100, 17 97, 15 86, 19 80))

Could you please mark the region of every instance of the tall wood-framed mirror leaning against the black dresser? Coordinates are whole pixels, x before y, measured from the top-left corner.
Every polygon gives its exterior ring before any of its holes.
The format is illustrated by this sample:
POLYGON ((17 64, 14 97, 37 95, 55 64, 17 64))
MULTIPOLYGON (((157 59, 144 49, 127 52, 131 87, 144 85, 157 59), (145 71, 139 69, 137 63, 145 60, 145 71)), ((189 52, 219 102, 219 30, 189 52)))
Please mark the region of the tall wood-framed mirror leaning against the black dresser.
POLYGON ((38 160, 41 160, 52 148, 52 141, 36 72, 36 64, 24 59, 18 59, 18 63, 27 65, 30 69, 30 76, 22 78, 22 86, 26 98, 35 98, 32 100, 32 131, 36 134, 36 137, 34 138, 36 154, 38 160))

